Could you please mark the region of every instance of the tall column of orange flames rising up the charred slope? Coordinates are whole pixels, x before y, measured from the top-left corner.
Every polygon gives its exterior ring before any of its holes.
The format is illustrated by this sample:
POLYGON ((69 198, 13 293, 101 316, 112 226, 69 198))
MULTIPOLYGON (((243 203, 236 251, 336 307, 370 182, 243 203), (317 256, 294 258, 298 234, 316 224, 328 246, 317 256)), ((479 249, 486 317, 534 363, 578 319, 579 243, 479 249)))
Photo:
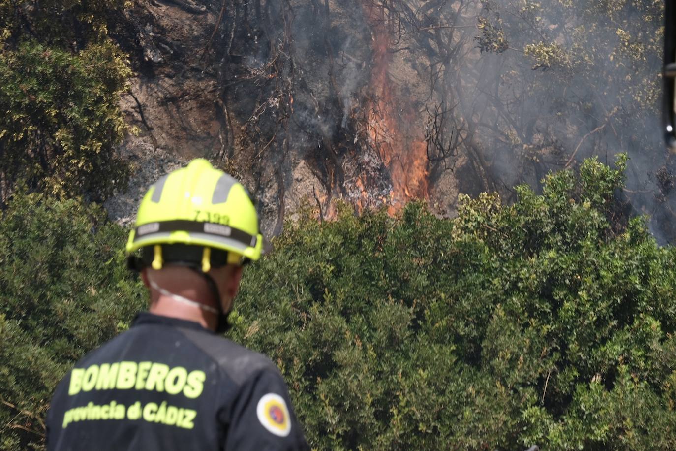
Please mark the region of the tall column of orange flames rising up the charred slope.
POLYGON ((399 210, 415 198, 428 198, 427 144, 422 130, 415 130, 416 111, 412 99, 399 93, 389 78, 391 24, 382 6, 366 0, 364 14, 372 29, 373 64, 368 105, 368 134, 383 164, 389 170, 392 192, 389 211, 399 210))

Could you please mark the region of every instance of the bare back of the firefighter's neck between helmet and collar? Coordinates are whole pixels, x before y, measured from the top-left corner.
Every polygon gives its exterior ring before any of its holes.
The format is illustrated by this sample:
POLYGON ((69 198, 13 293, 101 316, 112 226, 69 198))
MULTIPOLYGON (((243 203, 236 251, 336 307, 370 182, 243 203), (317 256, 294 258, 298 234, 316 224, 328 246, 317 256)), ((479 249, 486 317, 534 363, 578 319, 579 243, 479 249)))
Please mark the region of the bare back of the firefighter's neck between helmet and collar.
POLYGON ((209 285, 193 270, 167 267, 148 269, 143 281, 150 291, 149 312, 198 323, 216 330, 218 306, 209 285))

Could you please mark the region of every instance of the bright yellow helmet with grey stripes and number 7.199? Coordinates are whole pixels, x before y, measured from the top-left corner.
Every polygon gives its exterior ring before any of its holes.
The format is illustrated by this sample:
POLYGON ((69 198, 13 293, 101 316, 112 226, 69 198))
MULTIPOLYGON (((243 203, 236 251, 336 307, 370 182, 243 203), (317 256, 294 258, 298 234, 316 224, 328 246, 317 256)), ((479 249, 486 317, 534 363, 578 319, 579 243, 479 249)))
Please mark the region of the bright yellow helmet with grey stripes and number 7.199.
POLYGON ((245 187, 203 158, 162 177, 141 200, 127 254, 150 247, 152 266, 160 269, 166 245, 203 247, 203 272, 210 269, 212 250, 233 264, 258 260, 268 250, 245 187))

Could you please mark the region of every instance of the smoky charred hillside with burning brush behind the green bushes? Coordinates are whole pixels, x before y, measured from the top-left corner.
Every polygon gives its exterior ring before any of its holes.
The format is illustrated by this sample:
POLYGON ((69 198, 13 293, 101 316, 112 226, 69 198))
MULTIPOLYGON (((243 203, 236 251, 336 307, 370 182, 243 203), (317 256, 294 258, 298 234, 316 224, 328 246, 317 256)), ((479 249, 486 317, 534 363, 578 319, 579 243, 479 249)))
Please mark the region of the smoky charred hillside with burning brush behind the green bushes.
POLYGON ((662 11, 611 6, 137 1, 116 40, 137 74, 122 106, 138 133, 122 153, 143 182, 112 210, 193 156, 243 179, 279 233, 303 199, 323 217, 333 199, 396 212, 422 198, 452 215, 458 193, 514 199, 516 183, 625 152, 618 194, 669 239, 662 11))

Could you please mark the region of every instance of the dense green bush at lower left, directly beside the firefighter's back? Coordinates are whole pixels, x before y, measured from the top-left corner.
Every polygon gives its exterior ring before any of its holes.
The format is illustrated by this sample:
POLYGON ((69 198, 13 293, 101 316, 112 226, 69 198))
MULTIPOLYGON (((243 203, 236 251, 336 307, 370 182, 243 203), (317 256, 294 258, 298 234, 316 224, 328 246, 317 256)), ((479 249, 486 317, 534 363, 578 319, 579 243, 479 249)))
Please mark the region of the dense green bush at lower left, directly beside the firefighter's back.
POLYGON ((125 235, 98 206, 37 194, 0 216, 0 449, 41 449, 56 383, 142 308, 125 235))

